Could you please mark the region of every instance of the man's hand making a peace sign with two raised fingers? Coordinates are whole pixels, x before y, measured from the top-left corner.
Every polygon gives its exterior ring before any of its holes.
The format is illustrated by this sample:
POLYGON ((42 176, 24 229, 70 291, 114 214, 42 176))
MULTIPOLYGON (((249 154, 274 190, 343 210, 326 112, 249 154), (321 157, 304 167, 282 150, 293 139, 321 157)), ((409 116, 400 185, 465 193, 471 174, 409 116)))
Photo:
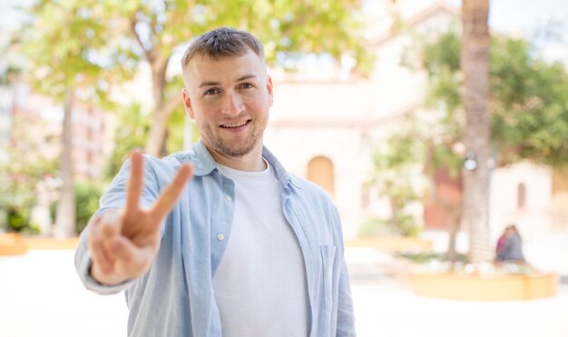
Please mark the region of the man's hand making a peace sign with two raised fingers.
POLYGON ((140 207, 144 186, 143 158, 132 151, 126 205, 92 220, 88 237, 93 264, 91 275, 103 284, 118 284, 136 278, 150 268, 160 249, 160 225, 180 197, 193 169, 181 165, 173 181, 150 209, 140 207))

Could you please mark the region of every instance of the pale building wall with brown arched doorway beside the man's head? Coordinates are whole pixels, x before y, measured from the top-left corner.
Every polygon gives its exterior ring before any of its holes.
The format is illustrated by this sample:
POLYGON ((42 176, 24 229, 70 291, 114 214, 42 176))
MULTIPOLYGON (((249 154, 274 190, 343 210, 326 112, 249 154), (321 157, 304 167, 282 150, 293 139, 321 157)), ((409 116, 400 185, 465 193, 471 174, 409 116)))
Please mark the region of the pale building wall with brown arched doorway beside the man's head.
MULTIPOLYGON (((447 25, 450 16, 441 7, 429 20, 417 23, 417 29, 439 25, 430 21, 447 25)), ((363 185, 371 178, 374 147, 396 133, 400 119, 417 113, 424 100, 425 75, 400 62, 413 41, 395 35, 371 45, 377 62, 368 79, 330 72, 324 62, 289 76, 273 74, 275 98, 265 144, 290 172, 304 178, 313 158, 324 156, 332 162, 333 198, 346 237, 356 236, 368 216, 387 213, 385 201, 375 197, 376 191, 368 195, 363 185), (319 71, 314 69, 318 66, 319 71)), ((414 209, 423 212, 422 207, 414 209)))

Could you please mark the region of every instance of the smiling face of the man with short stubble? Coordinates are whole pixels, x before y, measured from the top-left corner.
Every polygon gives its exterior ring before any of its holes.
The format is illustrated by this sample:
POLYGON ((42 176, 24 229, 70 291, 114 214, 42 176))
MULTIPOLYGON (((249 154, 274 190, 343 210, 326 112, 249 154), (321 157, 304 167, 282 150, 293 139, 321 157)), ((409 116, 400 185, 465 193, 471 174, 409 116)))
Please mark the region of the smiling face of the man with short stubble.
POLYGON ((262 145, 272 82, 252 51, 217 60, 195 55, 184 69, 183 104, 213 156, 240 157, 262 145))

